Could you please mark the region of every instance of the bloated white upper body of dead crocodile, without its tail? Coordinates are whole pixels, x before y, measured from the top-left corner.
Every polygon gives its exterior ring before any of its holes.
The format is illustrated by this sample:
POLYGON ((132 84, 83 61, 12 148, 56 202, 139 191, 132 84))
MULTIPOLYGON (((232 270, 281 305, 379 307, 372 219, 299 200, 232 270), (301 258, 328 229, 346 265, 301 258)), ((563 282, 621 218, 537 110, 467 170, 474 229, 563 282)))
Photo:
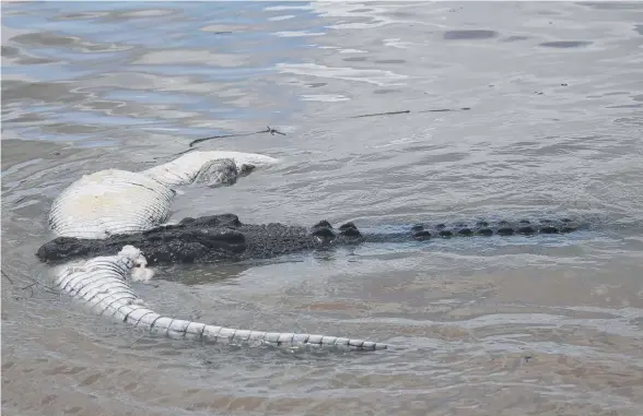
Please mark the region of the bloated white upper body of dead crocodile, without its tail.
POLYGON ((106 169, 85 175, 51 204, 49 226, 62 237, 105 238, 143 231, 167 219, 175 188, 233 183, 272 157, 239 152, 191 152, 142 171, 106 169))

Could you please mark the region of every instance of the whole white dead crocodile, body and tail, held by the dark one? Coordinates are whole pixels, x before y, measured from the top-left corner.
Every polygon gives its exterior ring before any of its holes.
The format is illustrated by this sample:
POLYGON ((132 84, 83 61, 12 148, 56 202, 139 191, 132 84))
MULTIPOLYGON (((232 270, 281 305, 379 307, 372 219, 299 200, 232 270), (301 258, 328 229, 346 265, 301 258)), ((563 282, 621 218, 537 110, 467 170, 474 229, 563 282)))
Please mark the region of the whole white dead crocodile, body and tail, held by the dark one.
MULTIPOLYGON (((79 238, 105 238, 150 229, 168 216, 175 194, 171 187, 191 183, 203 166, 215 166, 209 164, 221 158, 233 159, 237 168, 243 164, 260 167, 277 162, 258 154, 192 152, 140 173, 108 169, 86 175, 54 202, 49 215, 51 229, 59 236, 79 238)), ((95 313, 173 338, 386 348, 384 344, 362 340, 236 330, 164 317, 143 306, 129 284, 132 273, 141 280, 151 277, 152 272, 145 265, 140 250, 126 246, 116 255, 61 266, 56 273, 56 284, 95 313)))

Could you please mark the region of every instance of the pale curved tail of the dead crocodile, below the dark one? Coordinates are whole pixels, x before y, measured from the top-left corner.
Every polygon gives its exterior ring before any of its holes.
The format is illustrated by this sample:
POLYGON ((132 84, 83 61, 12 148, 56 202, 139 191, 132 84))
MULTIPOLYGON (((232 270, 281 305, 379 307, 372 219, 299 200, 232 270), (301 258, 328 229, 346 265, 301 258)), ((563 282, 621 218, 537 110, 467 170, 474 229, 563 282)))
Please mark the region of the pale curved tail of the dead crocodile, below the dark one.
POLYGON ((347 337, 238 330, 200 322, 168 318, 142 305, 128 283, 135 268, 143 266, 140 250, 126 246, 117 255, 97 257, 62 266, 56 284, 62 292, 83 302, 95 313, 127 322, 171 338, 197 340, 211 343, 268 343, 280 346, 312 345, 348 347, 352 349, 386 349, 382 343, 347 337))

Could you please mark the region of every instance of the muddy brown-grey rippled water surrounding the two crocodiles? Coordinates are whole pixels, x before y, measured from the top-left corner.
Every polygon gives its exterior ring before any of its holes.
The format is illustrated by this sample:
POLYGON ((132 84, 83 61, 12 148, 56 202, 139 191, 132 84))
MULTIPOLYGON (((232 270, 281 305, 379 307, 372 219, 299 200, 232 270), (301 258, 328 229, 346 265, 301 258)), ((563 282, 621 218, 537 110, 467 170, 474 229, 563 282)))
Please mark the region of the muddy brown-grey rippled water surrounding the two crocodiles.
POLYGON ((4 2, 3 415, 641 415, 642 107, 634 2, 4 2), (136 285, 182 318, 391 345, 375 354, 167 341, 43 287, 49 205, 81 175, 266 126, 287 134, 199 147, 281 163, 186 190, 173 218, 598 226, 136 285))

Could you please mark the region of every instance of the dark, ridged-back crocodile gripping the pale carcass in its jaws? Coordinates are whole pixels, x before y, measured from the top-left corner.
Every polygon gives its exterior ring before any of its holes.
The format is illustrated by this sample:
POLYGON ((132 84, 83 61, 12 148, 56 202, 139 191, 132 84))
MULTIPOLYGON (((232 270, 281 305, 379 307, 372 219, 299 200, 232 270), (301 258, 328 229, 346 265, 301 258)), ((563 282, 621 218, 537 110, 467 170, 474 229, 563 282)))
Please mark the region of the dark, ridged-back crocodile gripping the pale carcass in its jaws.
POLYGON ((242 224, 234 214, 185 218, 177 225, 156 227, 107 239, 58 237, 38 249, 46 262, 115 254, 126 245, 140 249, 150 265, 160 263, 212 263, 313 251, 361 242, 404 242, 435 238, 512 236, 571 233, 578 225, 568 218, 495 223, 417 224, 402 233, 361 233, 353 223, 334 228, 322 221, 311 228, 274 224, 242 224))

